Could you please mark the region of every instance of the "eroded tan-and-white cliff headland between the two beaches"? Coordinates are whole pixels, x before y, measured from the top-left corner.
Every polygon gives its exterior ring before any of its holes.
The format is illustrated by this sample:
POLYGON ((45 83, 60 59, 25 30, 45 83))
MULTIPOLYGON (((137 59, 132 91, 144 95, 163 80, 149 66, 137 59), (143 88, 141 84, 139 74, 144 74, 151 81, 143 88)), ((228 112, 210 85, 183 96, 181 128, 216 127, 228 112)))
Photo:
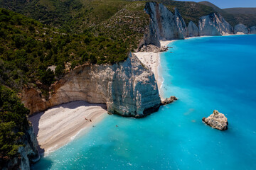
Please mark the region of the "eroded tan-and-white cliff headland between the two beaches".
POLYGON ((48 101, 32 88, 23 89, 22 101, 31 113, 70 101, 106 103, 107 111, 141 118, 157 111, 161 99, 151 72, 129 54, 113 65, 83 65, 53 84, 48 101))

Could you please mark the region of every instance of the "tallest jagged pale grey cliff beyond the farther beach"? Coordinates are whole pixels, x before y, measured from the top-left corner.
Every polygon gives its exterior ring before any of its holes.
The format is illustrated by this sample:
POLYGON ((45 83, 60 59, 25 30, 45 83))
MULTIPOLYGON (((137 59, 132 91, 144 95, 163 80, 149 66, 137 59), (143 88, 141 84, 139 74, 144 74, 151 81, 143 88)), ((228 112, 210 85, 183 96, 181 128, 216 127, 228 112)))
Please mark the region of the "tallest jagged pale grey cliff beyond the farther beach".
POLYGON ((149 30, 145 33, 139 48, 149 44, 160 47, 159 40, 177 40, 186 37, 186 23, 177 8, 172 13, 163 4, 147 2, 145 11, 149 14, 149 30))

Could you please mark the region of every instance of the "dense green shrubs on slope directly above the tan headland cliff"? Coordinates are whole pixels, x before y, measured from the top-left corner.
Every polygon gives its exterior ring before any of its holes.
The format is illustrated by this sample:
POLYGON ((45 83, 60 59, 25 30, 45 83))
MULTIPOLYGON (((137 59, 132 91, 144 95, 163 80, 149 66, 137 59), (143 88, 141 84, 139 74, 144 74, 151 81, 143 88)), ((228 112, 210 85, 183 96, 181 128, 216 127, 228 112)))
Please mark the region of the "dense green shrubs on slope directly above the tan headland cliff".
POLYGON ((38 80, 50 86, 63 77, 67 62, 72 67, 87 62, 121 62, 131 47, 137 47, 134 40, 137 34, 131 32, 131 38, 125 42, 122 38, 126 35, 117 36, 122 29, 104 35, 105 30, 100 31, 99 26, 78 35, 3 8, 0 16, 0 82, 12 89, 21 89, 23 84, 35 84, 38 80), (55 74, 48 70, 51 65, 58 66, 55 74))

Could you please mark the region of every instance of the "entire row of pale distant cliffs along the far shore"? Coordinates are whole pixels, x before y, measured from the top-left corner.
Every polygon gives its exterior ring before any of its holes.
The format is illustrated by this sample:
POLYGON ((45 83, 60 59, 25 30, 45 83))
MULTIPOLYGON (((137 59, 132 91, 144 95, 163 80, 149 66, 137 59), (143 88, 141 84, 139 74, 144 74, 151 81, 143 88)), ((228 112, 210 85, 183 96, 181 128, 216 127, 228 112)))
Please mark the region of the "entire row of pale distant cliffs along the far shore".
POLYGON ((183 40, 198 36, 256 33, 256 26, 247 28, 243 24, 238 24, 233 28, 219 13, 210 13, 208 16, 202 16, 198 20, 198 24, 190 21, 186 26, 177 8, 174 8, 174 13, 172 13, 163 4, 147 2, 144 10, 149 14, 149 31, 144 34, 144 38, 139 44, 139 51, 156 52, 156 50, 151 50, 154 49, 151 46, 154 45, 160 48, 161 40, 183 40))

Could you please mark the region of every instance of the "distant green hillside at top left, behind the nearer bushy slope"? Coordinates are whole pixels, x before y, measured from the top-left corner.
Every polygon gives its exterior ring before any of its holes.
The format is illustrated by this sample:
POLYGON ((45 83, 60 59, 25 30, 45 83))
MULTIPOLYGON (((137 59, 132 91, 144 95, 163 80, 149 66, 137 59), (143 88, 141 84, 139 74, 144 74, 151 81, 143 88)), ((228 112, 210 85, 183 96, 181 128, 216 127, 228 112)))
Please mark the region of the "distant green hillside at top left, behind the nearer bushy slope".
POLYGON ((1 0, 0 7, 22 13, 44 24, 81 33, 117 13, 127 4, 120 0, 1 0))

